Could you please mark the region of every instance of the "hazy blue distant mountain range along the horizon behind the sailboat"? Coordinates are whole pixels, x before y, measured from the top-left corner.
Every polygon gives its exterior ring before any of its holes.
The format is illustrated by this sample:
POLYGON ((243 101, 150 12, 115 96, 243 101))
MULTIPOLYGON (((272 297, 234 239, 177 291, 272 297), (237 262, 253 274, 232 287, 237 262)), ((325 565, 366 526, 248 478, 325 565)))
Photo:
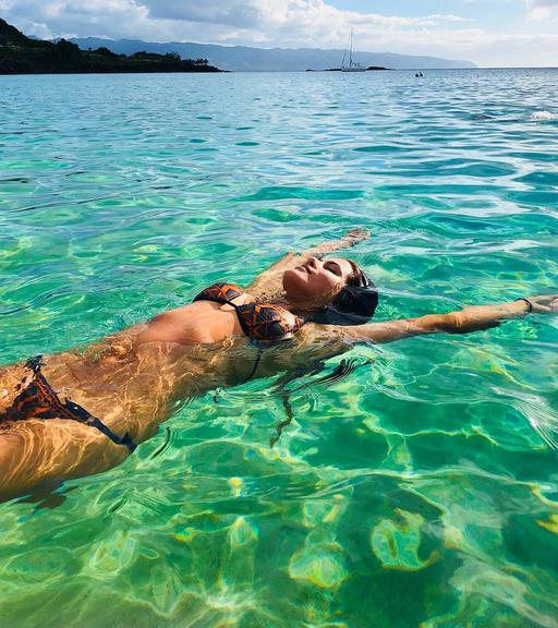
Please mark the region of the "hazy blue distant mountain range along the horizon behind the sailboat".
MULTIPOLYGON (((248 46, 218 46, 215 44, 192 44, 171 41, 159 44, 141 39, 104 39, 85 37, 70 39, 82 49, 106 47, 119 55, 131 55, 145 50, 166 55, 177 52, 182 58, 207 59, 213 65, 232 72, 295 72, 304 70, 328 70, 340 68, 343 50, 322 50, 319 48, 252 48, 248 46)), ((475 68, 471 61, 439 59, 437 57, 414 57, 392 52, 357 52, 353 59, 363 65, 384 67, 392 70, 415 70, 435 68, 475 68)))

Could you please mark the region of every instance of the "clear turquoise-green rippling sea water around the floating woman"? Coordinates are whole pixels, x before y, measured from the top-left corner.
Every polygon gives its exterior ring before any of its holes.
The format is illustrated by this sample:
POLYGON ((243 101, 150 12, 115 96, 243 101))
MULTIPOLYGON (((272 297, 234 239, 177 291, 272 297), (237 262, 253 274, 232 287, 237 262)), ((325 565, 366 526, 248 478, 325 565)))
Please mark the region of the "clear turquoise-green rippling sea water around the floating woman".
MULTIPOLYGON (((381 318, 556 291, 557 88, 0 77, 1 363, 353 226, 381 318)), ((557 328, 356 348, 274 448, 271 382, 193 401, 117 469, 0 505, 0 625, 557 626, 557 328)))

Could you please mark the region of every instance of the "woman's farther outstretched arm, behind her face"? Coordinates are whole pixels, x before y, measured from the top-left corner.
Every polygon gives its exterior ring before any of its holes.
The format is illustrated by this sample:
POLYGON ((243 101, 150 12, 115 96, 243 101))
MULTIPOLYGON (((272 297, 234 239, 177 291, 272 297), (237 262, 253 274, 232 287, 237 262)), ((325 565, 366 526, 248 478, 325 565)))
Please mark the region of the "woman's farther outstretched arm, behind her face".
POLYGON ((310 257, 324 255, 325 253, 332 253, 333 251, 340 251, 341 249, 349 249, 354 246, 362 240, 369 238, 369 231, 366 229, 352 229, 345 233, 339 240, 332 240, 331 242, 324 242, 323 244, 317 244, 307 251, 302 253, 288 253, 275 264, 266 268, 260 273, 254 281, 248 286, 247 290, 254 295, 258 295, 264 292, 272 292, 281 288, 282 274, 289 268, 294 268, 301 264, 305 264, 310 257))

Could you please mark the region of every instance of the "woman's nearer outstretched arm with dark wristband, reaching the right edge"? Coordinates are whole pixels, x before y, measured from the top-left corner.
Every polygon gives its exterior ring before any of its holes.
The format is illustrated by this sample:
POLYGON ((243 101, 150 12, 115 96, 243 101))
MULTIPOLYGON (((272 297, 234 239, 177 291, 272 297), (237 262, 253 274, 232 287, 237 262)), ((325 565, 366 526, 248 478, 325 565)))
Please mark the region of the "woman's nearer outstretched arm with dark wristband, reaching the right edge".
POLYGON ((526 314, 558 313, 558 294, 530 297, 499 305, 471 305, 448 314, 427 314, 417 318, 402 318, 359 326, 308 325, 316 335, 330 335, 352 341, 392 342, 402 338, 425 334, 470 334, 498 327, 510 318, 522 318, 526 314))

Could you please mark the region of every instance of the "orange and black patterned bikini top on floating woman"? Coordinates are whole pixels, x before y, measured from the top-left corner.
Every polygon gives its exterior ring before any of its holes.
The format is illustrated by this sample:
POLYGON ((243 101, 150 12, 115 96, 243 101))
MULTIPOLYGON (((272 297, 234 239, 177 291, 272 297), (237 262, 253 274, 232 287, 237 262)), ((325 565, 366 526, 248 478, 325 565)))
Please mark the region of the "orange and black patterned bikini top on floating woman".
POLYGON ((255 340, 277 342, 294 334, 304 325, 303 318, 295 316, 292 323, 291 314, 284 307, 275 303, 258 303, 254 297, 235 283, 214 283, 199 292, 194 301, 214 301, 232 305, 242 330, 255 340), (245 303, 242 305, 233 303, 234 299, 243 295, 247 297, 245 303))

